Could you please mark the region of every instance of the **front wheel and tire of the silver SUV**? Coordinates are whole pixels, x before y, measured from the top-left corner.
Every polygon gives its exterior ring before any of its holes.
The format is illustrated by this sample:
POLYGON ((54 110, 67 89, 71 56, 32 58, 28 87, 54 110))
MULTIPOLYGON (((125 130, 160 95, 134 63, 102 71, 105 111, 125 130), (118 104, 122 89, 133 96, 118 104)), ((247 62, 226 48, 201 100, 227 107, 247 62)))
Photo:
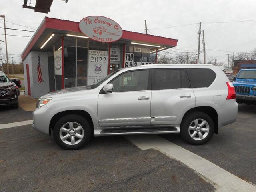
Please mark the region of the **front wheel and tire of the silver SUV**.
POLYGON ((78 150, 85 146, 90 140, 91 126, 82 116, 68 114, 56 122, 53 136, 55 142, 61 148, 66 150, 78 150))

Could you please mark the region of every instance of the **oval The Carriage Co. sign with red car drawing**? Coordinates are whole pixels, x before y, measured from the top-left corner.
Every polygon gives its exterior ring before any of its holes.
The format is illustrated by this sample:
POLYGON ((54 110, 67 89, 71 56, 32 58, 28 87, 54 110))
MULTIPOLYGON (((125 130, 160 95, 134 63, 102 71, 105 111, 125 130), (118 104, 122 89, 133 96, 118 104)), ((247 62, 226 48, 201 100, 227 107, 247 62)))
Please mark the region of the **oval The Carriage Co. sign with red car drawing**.
POLYGON ((89 16, 79 22, 79 29, 89 38, 99 42, 114 42, 122 37, 118 23, 103 16, 89 16))

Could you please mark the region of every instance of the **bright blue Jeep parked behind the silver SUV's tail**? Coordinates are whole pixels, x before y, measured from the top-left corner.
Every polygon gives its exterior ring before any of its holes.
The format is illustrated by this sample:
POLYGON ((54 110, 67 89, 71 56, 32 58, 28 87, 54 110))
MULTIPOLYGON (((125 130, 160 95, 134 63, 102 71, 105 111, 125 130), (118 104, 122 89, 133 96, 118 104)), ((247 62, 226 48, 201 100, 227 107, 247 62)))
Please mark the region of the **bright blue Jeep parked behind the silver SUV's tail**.
POLYGON ((256 104, 256 69, 241 69, 232 83, 236 90, 236 102, 256 104))

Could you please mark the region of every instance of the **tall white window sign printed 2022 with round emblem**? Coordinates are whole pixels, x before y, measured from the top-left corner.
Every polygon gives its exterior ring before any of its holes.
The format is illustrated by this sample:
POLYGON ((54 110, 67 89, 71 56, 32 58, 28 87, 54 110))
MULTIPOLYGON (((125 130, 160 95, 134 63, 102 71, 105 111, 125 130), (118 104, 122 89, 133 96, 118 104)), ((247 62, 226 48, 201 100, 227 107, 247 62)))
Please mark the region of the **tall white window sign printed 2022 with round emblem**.
POLYGON ((100 82, 108 74, 108 51, 89 50, 88 85, 100 82))

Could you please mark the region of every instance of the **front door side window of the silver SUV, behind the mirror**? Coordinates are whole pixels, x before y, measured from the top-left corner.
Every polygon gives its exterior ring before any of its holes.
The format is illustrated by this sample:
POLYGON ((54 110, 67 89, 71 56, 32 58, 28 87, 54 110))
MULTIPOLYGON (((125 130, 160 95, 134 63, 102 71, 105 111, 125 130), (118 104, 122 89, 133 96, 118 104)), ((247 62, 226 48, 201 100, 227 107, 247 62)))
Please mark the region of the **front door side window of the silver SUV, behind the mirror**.
POLYGON ((149 70, 126 72, 110 83, 113 84, 113 92, 148 90, 149 70))

